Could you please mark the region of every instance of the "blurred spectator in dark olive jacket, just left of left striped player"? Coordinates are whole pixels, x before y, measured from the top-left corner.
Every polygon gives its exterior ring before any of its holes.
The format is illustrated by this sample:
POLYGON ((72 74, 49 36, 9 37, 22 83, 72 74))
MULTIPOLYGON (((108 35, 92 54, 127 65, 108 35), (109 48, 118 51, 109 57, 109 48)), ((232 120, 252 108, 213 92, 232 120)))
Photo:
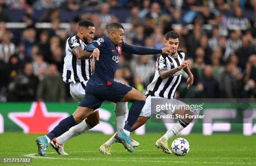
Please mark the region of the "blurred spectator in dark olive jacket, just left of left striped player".
POLYGON ((38 85, 37 100, 45 102, 64 102, 65 85, 55 64, 50 64, 47 74, 38 85))

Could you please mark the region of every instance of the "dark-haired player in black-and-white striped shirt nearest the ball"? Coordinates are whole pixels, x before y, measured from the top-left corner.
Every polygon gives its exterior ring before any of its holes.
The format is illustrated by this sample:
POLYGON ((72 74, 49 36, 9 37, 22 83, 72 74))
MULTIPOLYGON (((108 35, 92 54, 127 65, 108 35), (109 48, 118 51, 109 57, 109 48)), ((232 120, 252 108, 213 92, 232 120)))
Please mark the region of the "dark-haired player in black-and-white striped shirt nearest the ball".
MULTIPOLYGON (((131 131, 141 127, 146 121, 153 115, 164 112, 172 115, 184 115, 184 113, 193 115, 191 111, 182 110, 180 107, 169 111, 163 110, 156 112, 151 110, 151 99, 170 99, 168 102, 171 105, 184 105, 185 103, 176 100, 175 94, 177 87, 180 83, 182 72, 186 72, 189 75, 187 82, 189 83, 187 89, 193 84, 193 74, 189 70, 190 61, 185 60, 185 53, 178 50, 179 47, 179 35, 174 31, 166 33, 165 46, 171 49, 172 54, 162 54, 158 57, 156 62, 156 72, 153 81, 148 85, 146 92, 146 103, 141 111, 140 116, 131 128, 131 131)), ((165 105, 166 100, 159 100, 160 105, 165 105)), ((168 104, 169 104, 168 103, 168 104)), ((182 118, 179 119, 173 127, 168 130, 161 138, 156 141, 156 146, 161 148, 165 153, 172 153, 168 148, 168 140, 172 136, 177 135, 182 129, 184 129, 193 119, 182 118)))

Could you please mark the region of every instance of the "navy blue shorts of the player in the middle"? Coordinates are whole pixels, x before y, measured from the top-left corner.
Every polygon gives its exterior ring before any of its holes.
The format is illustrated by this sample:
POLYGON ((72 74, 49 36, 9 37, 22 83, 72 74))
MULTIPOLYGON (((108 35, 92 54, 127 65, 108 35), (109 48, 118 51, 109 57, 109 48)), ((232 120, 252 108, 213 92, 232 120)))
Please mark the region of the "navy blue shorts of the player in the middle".
POLYGON ((80 102, 79 106, 97 109, 105 100, 117 103, 131 89, 132 87, 115 81, 112 81, 110 85, 104 85, 102 87, 92 87, 87 84, 84 99, 80 102))

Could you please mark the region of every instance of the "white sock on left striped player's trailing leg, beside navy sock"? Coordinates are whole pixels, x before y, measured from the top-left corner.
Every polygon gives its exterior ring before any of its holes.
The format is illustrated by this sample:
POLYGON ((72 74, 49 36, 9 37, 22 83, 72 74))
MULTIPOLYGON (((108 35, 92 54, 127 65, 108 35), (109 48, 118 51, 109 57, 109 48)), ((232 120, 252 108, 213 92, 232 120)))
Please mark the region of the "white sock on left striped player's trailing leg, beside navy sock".
POLYGON ((83 120, 81 123, 73 126, 66 133, 64 133, 61 136, 59 136, 58 138, 56 138, 56 141, 59 144, 64 144, 67 140, 69 140, 73 137, 76 137, 90 129, 91 129, 91 127, 89 127, 87 125, 86 120, 83 120))

